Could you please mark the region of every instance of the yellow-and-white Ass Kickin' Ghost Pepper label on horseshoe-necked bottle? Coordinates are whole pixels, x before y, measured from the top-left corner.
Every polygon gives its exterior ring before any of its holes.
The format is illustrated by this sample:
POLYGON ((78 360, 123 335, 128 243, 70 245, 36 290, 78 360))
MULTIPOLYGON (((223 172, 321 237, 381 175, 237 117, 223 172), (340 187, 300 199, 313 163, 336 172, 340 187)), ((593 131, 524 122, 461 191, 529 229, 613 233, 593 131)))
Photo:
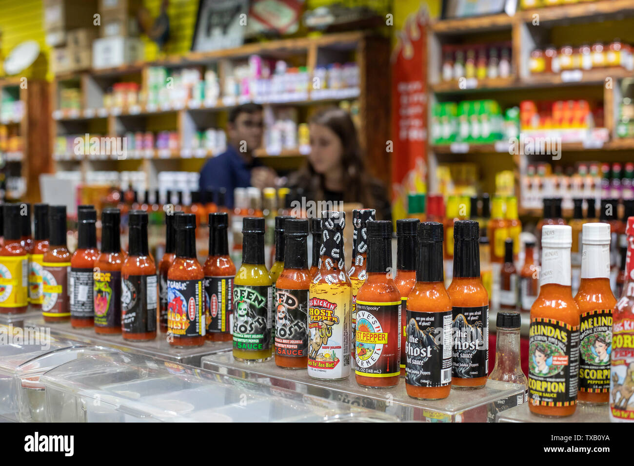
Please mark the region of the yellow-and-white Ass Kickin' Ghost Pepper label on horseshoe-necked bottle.
POLYGON ((313 282, 309 297, 308 374, 318 379, 348 377, 352 357, 348 310, 351 289, 313 282))

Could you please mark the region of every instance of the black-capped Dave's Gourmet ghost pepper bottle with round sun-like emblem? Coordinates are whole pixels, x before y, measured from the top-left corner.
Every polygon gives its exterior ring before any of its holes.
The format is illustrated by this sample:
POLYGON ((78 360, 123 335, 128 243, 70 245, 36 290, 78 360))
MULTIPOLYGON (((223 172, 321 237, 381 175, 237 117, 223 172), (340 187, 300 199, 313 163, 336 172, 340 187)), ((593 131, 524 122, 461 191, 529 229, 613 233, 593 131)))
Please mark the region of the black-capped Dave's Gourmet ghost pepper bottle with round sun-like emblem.
POLYGON ((401 377, 401 292, 392 279, 392 222, 369 220, 368 277, 357 294, 355 377, 365 387, 393 387, 401 377))

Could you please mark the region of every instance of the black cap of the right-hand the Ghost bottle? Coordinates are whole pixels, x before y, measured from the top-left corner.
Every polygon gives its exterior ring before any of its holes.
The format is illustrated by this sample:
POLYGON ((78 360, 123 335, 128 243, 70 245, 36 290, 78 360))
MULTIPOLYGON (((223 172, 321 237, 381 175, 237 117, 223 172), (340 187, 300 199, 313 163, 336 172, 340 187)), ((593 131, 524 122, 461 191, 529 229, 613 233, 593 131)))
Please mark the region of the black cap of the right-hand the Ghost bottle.
POLYGON ((480 276, 480 226, 473 220, 458 220, 453 224, 453 276, 480 276))

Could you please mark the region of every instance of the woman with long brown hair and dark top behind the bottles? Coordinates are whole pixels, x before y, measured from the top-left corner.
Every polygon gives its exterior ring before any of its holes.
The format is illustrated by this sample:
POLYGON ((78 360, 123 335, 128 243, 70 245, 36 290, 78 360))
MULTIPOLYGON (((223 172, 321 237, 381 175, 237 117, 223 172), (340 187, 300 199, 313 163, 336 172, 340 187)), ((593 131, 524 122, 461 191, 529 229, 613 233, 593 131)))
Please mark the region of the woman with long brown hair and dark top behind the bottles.
POLYGON ((342 108, 328 108, 310 121, 311 153, 307 164, 290 174, 287 186, 301 189, 307 200, 359 202, 377 210, 377 219, 391 220, 385 186, 365 169, 356 128, 342 108))

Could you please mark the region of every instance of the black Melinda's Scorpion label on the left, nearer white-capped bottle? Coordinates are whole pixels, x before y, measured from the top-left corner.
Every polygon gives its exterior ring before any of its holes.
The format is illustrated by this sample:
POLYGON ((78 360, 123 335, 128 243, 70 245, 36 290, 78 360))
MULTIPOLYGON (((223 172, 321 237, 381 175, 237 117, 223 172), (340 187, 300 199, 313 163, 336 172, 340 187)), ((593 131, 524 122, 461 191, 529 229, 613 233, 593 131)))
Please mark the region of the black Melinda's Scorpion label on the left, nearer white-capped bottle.
POLYGON ((529 330, 529 400, 538 406, 577 403, 579 327, 535 318, 529 330))

